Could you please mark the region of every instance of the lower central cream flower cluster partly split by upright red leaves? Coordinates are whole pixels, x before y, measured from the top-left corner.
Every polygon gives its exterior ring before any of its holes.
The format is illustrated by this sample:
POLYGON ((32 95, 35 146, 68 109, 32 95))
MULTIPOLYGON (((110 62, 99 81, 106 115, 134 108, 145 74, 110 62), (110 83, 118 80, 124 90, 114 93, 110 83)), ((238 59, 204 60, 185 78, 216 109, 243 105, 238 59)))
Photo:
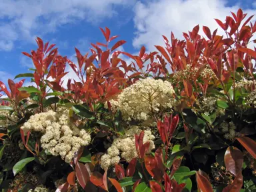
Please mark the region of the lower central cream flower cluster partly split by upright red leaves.
MULTIPOLYGON (((139 135, 141 131, 142 129, 139 129, 138 126, 131 126, 130 129, 127 129, 125 135, 114 139, 111 147, 107 149, 107 154, 101 157, 101 168, 106 170, 111 165, 119 163, 119 153, 121 153, 121 157, 127 162, 131 161, 131 159, 134 157, 137 157, 137 151, 135 148, 135 134, 139 135)), ((150 129, 146 128, 144 130, 143 143, 147 143, 147 141, 150 143, 149 151, 147 151, 147 153, 150 153, 151 150, 155 148, 154 139, 155 136, 152 135, 150 129)))

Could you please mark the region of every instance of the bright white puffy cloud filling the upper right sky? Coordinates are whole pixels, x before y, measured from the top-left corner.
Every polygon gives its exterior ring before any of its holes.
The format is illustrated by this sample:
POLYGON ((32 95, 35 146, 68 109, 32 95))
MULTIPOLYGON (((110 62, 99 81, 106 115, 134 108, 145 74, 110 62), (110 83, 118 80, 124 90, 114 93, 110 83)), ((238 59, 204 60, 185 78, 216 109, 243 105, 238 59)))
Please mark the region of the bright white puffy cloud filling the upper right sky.
MULTIPOLYGON (((227 1, 222 0, 152 0, 147 3, 138 1, 134 8, 133 46, 139 49, 145 45, 148 51, 155 51, 154 45, 164 45, 161 35, 170 39, 173 31, 175 37, 184 39, 183 32, 191 31, 198 24, 201 35, 204 35, 203 25, 209 27, 211 32, 219 28, 217 33, 224 35, 214 18, 224 21, 225 16, 231 15, 230 11, 236 13, 240 5, 226 6, 227 1)), ((249 16, 255 14, 255 11, 243 9, 249 16)))

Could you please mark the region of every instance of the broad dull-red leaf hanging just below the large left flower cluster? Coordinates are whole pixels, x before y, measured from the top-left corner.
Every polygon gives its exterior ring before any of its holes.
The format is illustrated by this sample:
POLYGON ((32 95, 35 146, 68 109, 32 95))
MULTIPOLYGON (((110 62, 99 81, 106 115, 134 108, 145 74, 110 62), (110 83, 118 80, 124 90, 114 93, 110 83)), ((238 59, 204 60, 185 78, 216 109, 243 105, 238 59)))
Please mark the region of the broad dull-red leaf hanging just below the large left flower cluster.
POLYGON ((85 189, 86 183, 90 181, 90 175, 83 163, 77 162, 77 164, 75 165, 75 175, 77 176, 77 180, 81 187, 85 189))

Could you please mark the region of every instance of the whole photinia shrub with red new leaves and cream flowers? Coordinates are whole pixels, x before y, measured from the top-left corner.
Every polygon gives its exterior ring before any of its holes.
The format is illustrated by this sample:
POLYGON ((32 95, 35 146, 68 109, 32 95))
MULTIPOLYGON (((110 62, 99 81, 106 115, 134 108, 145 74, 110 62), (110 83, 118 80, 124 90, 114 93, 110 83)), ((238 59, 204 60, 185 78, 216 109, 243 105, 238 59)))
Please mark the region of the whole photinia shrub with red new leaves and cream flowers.
POLYGON ((255 191, 256 22, 231 16, 139 55, 107 27, 77 61, 37 37, 31 86, 0 81, 2 191, 255 191))

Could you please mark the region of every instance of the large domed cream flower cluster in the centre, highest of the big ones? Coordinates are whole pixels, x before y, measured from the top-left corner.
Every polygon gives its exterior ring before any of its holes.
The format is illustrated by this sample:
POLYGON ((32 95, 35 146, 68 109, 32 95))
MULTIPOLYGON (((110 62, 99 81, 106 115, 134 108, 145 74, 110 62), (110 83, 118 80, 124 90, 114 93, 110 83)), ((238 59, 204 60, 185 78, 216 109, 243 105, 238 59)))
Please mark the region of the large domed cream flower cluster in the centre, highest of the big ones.
POLYGON ((118 95, 118 109, 125 120, 145 121, 153 113, 173 107, 173 93, 173 86, 168 81, 142 79, 118 95))

